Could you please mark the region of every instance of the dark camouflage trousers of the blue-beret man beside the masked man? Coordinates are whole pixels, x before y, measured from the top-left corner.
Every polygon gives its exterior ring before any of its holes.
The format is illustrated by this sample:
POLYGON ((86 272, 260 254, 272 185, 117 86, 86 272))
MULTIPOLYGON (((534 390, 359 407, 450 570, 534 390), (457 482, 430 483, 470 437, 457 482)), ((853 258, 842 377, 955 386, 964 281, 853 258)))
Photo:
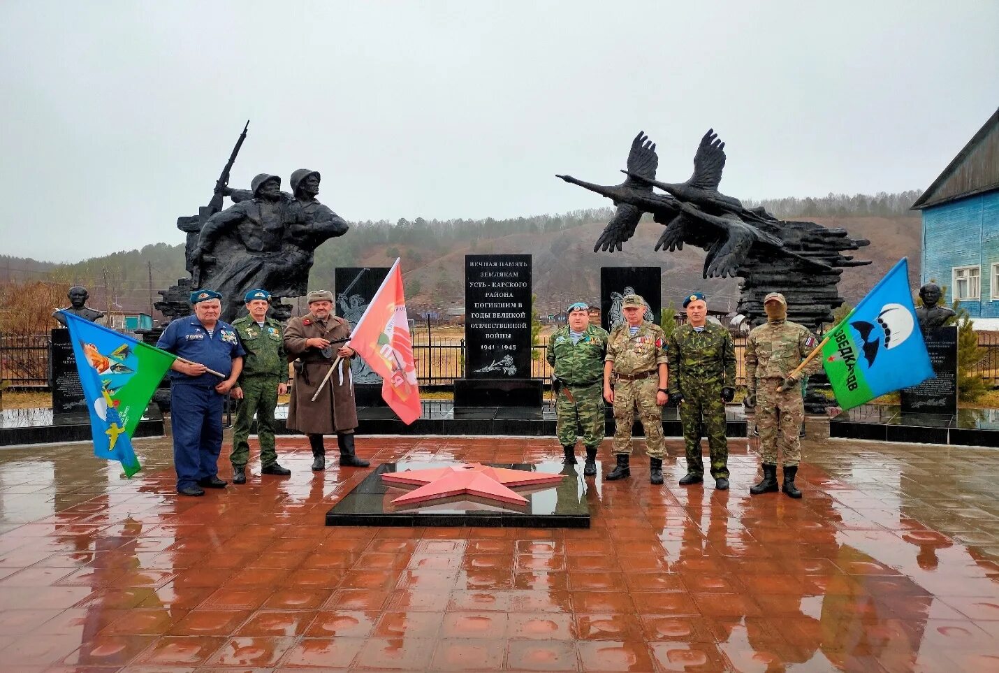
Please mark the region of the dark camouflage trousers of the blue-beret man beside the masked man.
POLYGON ((700 438, 707 435, 711 458, 711 476, 728 478, 728 440, 725 439, 725 403, 720 386, 683 387, 683 402, 679 406, 683 444, 686 448, 687 473, 704 474, 700 438), (689 391, 689 393, 687 392, 689 391))

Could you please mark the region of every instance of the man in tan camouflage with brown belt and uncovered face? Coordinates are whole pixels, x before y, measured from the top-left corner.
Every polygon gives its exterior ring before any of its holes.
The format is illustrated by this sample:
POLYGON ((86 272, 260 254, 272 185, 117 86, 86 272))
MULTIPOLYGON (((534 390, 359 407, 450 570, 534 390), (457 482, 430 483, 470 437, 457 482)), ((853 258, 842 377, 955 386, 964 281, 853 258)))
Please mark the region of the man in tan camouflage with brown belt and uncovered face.
POLYGON ((614 456, 617 466, 608 481, 631 476, 631 424, 635 410, 645 431, 649 481, 662 483, 662 405, 666 403, 666 335, 662 328, 642 320, 645 300, 629 294, 621 301, 624 322, 607 338, 603 365, 603 397, 614 405, 614 456))

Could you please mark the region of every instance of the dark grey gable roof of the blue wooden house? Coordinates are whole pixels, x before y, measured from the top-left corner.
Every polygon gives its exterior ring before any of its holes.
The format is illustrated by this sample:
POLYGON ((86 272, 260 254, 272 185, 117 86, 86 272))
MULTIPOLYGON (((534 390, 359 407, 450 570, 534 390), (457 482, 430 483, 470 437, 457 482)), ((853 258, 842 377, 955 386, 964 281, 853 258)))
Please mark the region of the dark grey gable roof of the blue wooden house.
POLYGON ((923 210, 999 189, 999 108, 912 204, 923 210))

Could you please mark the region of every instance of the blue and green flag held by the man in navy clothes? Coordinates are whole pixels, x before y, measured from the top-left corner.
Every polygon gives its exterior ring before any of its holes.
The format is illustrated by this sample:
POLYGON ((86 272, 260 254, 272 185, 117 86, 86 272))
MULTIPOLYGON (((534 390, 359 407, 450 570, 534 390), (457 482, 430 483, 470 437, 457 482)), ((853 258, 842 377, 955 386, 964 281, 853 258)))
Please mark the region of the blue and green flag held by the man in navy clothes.
POLYGON ((132 449, 132 435, 177 358, 72 313, 62 315, 90 412, 94 455, 121 462, 131 477, 142 469, 132 449))

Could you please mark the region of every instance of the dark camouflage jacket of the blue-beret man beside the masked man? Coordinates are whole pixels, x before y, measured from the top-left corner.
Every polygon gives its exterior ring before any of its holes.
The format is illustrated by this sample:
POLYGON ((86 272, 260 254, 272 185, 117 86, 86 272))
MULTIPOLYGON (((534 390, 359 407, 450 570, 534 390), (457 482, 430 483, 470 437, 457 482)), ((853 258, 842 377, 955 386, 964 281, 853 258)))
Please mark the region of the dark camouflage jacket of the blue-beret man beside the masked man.
POLYGON ((669 337, 669 394, 693 387, 735 387, 735 344, 721 325, 707 323, 702 332, 681 325, 669 337))

